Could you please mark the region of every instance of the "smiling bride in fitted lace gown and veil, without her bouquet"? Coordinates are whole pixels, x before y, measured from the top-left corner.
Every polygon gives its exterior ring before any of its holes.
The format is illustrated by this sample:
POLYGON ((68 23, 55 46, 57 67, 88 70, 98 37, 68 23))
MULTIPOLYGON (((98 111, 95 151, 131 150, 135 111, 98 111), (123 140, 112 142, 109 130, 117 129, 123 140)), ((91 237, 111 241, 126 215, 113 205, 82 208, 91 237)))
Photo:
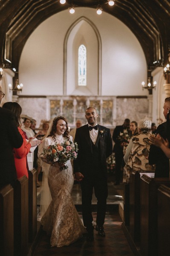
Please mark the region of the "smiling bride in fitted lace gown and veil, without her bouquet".
MULTIPOLYGON (((72 140, 72 137, 68 136, 66 119, 63 116, 57 116, 53 120, 49 136, 41 143, 38 156, 46 162, 42 157, 43 148, 55 143, 63 143, 65 140, 72 140)), ((51 246, 57 247, 69 245, 86 233, 71 197, 74 177, 70 160, 66 165, 68 169, 62 171, 60 170, 62 164, 58 162, 55 166, 49 167, 48 185, 52 201, 41 218, 43 230, 51 236, 51 246)))

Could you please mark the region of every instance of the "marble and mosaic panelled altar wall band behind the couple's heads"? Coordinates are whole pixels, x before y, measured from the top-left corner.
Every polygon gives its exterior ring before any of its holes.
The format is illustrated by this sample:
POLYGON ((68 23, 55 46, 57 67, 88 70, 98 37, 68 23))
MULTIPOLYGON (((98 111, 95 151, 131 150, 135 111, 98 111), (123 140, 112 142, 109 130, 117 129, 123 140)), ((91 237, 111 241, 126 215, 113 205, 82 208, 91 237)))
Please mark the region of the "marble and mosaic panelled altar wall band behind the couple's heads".
POLYGON ((53 119, 63 115, 71 128, 75 127, 76 119, 86 124, 85 110, 89 106, 98 112, 98 123, 109 128, 121 125, 125 118, 138 122, 148 116, 149 102, 144 97, 115 96, 48 96, 22 97, 18 99, 22 114, 37 120, 37 127, 42 119, 53 119))

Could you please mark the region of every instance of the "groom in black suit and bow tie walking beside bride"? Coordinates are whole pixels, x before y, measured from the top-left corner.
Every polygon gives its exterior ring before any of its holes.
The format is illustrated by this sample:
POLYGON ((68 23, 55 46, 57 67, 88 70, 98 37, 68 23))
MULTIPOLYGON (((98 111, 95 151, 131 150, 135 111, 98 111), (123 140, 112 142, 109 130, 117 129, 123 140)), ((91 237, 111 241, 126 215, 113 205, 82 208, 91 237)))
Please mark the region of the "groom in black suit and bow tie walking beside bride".
POLYGON ((95 108, 86 109, 87 125, 76 130, 78 157, 74 160, 75 180, 80 181, 82 191, 82 213, 87 230, 87 241, 93 241, 92 193, 97 198, 96 230, 105 236, 103 224, 107 204, 107 162, 112 154, 110 130, 97 124, 98 113, 95 108))

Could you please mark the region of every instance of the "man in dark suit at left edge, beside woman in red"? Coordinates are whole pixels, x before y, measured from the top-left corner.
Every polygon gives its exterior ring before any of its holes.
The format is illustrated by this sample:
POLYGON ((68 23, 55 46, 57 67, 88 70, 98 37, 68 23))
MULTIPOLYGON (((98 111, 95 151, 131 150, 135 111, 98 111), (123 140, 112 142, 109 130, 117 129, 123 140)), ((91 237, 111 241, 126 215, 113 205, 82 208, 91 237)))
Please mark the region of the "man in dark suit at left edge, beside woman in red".
MULTIPOLYGON (((5 94, 0 86, 0 102, 5 94)), ((17 178, 13 148, 20 148, 23 138, 17 129, 12 111, 0 108, 0 189, 17 178)))

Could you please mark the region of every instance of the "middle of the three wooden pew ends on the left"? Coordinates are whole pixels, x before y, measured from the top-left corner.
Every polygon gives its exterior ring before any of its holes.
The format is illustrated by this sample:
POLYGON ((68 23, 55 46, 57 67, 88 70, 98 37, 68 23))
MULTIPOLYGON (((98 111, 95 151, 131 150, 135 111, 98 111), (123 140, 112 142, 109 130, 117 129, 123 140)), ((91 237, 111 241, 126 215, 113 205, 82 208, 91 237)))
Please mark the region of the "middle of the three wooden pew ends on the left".
POLYGON ((28 253, 28 178, 14 184, 14 256, 28 253))

